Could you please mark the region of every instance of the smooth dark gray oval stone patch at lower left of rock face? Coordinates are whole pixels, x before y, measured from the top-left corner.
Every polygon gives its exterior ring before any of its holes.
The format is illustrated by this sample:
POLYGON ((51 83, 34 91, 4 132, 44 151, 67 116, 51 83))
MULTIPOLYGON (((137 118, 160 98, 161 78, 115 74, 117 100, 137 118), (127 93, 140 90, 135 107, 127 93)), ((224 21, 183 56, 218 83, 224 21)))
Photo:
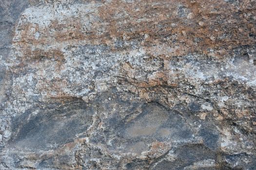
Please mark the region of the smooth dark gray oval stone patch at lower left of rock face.
POLYGON ((12 132, 20 131, 11 142, 16 148, 30 150, 49 150, 74 141, 76 135, 86 132, 94 113, 81 100, 28 112, 23 119, 13 119, 12 132))

